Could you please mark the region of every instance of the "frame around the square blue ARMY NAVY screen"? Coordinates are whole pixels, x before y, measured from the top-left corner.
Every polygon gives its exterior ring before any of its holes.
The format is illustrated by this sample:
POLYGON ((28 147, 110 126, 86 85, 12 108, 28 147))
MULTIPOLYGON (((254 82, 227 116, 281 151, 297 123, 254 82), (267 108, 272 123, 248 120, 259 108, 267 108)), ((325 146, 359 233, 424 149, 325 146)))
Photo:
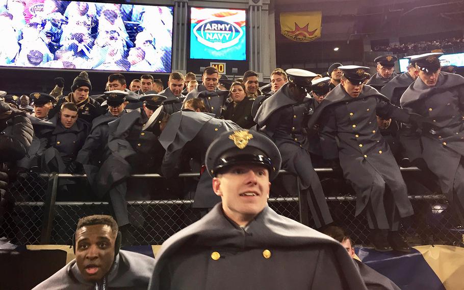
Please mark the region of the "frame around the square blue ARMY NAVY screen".
POLYGON ((188 6, 189 13, 187 17, 188 29, 187 29, 187 52, 186 55, 188 60, 194 61, 204 61, 204 62, 248 62, 250 60, 250 33, 249 33, 249 13, 248 9, 245 8, 224 8, 224 7, 201 7, 201 6, 188 6), (196 9, 222 9, 222 10, 242 10, 245 11, 245 60, 234 60, 234 59, 214 59, 214 58, 190 58, 190 51, 191 51, 191 37, 192 33, 190 33, 190 29, 192 26, 192 8, 196 9))

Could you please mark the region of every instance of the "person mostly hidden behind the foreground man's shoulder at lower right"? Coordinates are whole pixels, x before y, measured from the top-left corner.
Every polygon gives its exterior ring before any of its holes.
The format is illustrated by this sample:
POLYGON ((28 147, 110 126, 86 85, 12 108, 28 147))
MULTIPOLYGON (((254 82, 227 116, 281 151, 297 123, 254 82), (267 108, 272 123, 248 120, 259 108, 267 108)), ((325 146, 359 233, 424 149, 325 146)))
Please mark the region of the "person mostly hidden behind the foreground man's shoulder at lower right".
POLYGON ((359 274, 369 290, 400 290, 389 278, 378 273, 362 261, 358 260, 354 254, 353 241, 342 228, 330 226, 324 230, 324 234, 338 240, 348 252, 359 270, 359 274))

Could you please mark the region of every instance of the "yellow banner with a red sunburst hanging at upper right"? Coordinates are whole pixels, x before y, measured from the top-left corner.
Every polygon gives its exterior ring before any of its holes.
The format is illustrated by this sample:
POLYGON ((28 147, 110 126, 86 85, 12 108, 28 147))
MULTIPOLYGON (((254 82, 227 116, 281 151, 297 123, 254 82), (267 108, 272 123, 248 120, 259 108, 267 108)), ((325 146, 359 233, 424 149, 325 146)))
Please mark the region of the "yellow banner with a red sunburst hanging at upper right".
POLYGON ((313 41, 321 37, 321 21, 321 11, 280 13, 280 33, 293 41, 313 41))

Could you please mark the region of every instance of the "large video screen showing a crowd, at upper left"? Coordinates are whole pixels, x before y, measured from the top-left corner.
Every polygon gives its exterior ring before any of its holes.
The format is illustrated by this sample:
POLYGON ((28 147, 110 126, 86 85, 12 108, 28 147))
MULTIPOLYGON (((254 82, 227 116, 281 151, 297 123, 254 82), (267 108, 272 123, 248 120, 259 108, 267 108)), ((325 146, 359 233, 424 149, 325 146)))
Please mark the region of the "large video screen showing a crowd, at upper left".
POLYGON ((0 1, 0 66, 170 72, 173 8, 0 1))

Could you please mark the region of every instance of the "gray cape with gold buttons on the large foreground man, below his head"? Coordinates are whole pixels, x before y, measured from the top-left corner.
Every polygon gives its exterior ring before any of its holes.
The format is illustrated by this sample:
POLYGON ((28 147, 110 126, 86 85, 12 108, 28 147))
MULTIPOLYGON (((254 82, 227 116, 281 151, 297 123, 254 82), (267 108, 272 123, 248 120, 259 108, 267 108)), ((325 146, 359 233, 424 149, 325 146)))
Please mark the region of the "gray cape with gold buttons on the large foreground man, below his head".
POLYGON ((342 288, 366 286, 336 240, 268 206, 241 228, 226 218, 222 203, 163 243, 149 286, 150 290, 342 288), (270 257, 265 258, 264 249, 269 249, 270 257), (213 252, 220 258, 212 259, 213 252))

